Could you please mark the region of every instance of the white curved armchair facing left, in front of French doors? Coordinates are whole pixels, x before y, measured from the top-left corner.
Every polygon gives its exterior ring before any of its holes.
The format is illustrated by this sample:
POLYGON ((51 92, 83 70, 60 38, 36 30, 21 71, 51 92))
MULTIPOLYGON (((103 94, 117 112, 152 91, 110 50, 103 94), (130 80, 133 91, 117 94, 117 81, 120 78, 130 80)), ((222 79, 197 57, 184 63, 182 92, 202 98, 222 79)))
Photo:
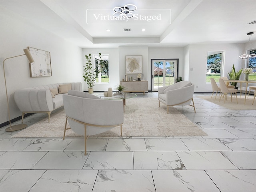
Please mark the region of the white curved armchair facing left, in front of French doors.
POLYGON ((193 100, 194 94, 194 84, 190 81, 180 81, 170 86, 164 86, 158 88, 158 100, 159 107, 160 102, 167 105, 167 113, 169 113, 169 106, 175 105, 190 105, 194 107, 196 112, 193 100), (191 101, 193 105, 191 105, 191 101))

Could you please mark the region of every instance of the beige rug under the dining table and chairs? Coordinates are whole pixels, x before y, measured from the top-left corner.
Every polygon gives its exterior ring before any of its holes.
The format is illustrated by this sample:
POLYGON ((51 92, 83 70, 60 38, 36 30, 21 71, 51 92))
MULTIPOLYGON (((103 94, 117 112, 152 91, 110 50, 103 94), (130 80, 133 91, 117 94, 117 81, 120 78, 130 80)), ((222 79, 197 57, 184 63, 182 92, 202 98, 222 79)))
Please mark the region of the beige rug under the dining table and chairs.
POLYGON ((200 96, 198 98, 210 101, 212 103, 215 103, 217 105, 223 106, 231 110, 256 110, 256 100, 252 105, 253 96, 251 95, 249 95, 249 98, 247 98, 246 96, 245 104, 244 104, 244 95, 242 95, 242 98, 240 98, 240 93, 237 94, 238 104, 236 103, 236 97, 234 98, 233 95, 232 95, 232 102, 231 102, 231 97, 229 95, 228 100, 225 101, 225 103, 224 103, 224 99, 220 99, 219 95, 217 95, 216 100, 214 101, 215 94, 213 94, 212 99, 211 99, 211 96, 200 96), (219 102, 219 99, 220 99, 220 102, 219 102))

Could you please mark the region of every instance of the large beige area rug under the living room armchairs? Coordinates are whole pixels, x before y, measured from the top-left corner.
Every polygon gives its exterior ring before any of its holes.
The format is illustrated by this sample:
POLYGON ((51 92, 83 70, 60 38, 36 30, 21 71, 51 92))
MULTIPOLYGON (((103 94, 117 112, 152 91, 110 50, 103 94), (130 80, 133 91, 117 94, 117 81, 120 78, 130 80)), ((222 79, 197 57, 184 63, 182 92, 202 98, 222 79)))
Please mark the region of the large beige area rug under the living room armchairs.
MULTIPOLYGON (((29 126, 12 136, 24 137, 62 137, 65 126, 65 112, 52 114, 48 118, 29 126)), ((207 134, 186 116, 173 107, 158 105, 157 98, 131 98, 126 100, 122 136, 207 136, 207 134)), ((67 130, 66 137, 78 136, 72 130, 67 130)), ((98 137, 120 136, 120 127, 115 127, 98 137)))

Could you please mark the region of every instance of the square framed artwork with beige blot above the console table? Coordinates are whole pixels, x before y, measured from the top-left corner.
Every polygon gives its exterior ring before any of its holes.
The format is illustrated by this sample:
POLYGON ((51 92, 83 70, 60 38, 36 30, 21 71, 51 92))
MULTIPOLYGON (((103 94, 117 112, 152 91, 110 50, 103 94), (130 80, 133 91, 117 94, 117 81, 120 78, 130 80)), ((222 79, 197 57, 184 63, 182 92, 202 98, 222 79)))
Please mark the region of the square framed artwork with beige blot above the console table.
POLYGON ((142 73, 142 55, 126 55, 126 74, 142 73))

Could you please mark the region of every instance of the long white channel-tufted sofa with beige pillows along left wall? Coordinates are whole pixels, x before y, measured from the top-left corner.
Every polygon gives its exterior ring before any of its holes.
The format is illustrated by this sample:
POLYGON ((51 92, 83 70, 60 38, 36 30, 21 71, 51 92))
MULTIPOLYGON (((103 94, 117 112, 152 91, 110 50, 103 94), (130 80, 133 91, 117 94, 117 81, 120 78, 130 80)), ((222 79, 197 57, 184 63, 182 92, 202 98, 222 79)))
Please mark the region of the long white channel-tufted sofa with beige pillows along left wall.
POLYGON ((14 92, 14 100, 22 112, 22 122, 26 113, 47 113, 63 106, 63 94, 68 90, 82 91, 82 83, 56 83, 36 87, 28 87, 14 92))

